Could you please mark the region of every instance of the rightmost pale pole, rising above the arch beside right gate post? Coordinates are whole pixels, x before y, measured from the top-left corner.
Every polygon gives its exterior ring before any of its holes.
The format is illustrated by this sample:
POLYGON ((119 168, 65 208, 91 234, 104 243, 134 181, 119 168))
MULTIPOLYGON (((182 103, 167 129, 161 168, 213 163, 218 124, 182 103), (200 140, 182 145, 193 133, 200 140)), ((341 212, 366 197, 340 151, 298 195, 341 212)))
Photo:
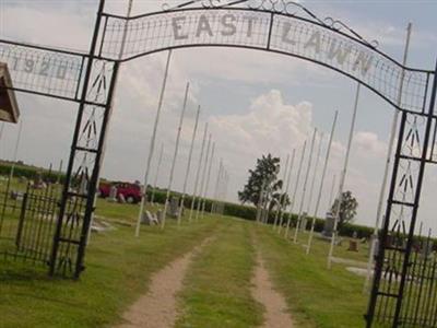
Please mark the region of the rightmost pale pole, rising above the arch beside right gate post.
MULTIPOLYGON (((406 66, 406 60, 409 56, 409 49, 410 49, 410 38, 411 38, 411 32, 412 32, 412 23, 409 23, 406 27, 406 40, 405 40, 405 49, 403 52, 403 61, 402 65, 405 67, 406 66)), ((401 82, 399 85, 399 93, 398 93, 398 106, 401 106, 402 103, 402 91, 403 91, 403 83, 404 83, 404 77, 405 77, 405 70, 402 69, 401 72, 401 82)), ((378 237, 378 230, 380 225, 380 220, 382 216, 382 206, 383 206, 383 199, 386 197, 386 189, 387 189, 387 178, 389 174, 389 168, 390 168, 390 163, 391 163, 391 154, 393 153, 393 147, 394 147, 394 138, 397 134, 397 128, 398 128, 398 120, 399 120, 399 110, 394 109, 393 113, 393 119, 391 122, 391 130, 390 130, 390 137, 389 137, 389 147, 387 150, 387 159, 386 159, 386 166, 383 169, 383 175, 382 175, 382 183, 381 183, 381 188, 379 190, 379 200, 378 200, 378 207, 376 210, 376 220, 375 220, 375 227, 374 227, 374 234, 370 238, 370 253, 367 261, 367 274, 366 279, 364 281, 364 288, 363 292, 368 291, 368 285, 370 282, 370 277, 371 277, 371 267, 374 263, 374 253, 375 253, 375 241, 378 237)))

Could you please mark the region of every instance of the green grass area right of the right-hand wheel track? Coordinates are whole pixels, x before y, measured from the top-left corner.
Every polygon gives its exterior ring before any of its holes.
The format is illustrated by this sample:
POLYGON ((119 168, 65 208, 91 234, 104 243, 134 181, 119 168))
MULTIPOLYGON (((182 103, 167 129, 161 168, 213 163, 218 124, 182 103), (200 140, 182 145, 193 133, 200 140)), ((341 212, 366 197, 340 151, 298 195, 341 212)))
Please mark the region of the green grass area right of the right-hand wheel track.
MULTIPOLYGON (((329 244, 315 239, 311 255, 300 245, 279 238, 265 226, 256 229, 256 241, 265 259, 273 283, 286 297, 297 327, 364 327, 368 296, 363 278, 333 265, 327 269, 329 244)), ((338 256, 364 257, 335 247, 338 256)))

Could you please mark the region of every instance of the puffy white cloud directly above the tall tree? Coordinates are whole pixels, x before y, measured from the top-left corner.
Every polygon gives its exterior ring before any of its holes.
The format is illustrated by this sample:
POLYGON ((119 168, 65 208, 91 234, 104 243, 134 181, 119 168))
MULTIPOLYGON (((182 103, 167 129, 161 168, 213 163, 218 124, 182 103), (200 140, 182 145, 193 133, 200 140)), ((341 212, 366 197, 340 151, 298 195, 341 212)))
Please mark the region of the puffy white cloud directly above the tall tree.
POLYGON ((271 90, 251 102, 248 113, 211 117, 211 128, 228 150, 250 156, 262 152, 290 152, 311 130, 312 105, 285 104, 280 91, 271 90))

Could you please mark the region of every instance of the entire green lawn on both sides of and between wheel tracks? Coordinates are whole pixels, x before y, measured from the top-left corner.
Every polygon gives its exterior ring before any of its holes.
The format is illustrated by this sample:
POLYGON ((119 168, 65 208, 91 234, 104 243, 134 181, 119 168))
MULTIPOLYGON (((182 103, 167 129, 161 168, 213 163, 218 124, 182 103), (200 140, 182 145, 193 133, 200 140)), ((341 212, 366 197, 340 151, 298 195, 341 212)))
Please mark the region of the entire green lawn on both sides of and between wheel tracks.
MULTIPOLYGON (((0 327, 111 327, 147 290, 151 276, 212 236, 197 255, 178 295, 177 327, 257 327, 263 307, 250 294, 256 251, 265 259, 275 288, 285 296, 297 327, 363 327, 367 296, 363 278, 344 265, 326 268, 328 243, 300 245, 271 227, 232 218, 208 216, 165 231, 144 226, 133 237, 138 206, 99 200, 97 216, 116 230, 93 234, 80 281, 49 279, 45 268, 0 260, 0 327)), ((299 235, 306 242, 304 234, 299 235)), ((367 248, 336 256, 365 261, 367 248)))

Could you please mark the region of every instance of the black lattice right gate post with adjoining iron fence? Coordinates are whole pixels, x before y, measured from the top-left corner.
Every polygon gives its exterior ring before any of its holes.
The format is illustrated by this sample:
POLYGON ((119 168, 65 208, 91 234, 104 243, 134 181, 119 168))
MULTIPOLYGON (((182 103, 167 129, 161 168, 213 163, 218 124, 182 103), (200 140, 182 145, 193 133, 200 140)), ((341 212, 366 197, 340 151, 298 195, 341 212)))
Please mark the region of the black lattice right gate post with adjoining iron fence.
MULTIPOLYGON (((428 90, 428 87, 427 87, 428 90)), ((417 232, 426 164, 437 164, 435 116, 437 67, 420 114, 402 112, 383 227, 375 268, 367 327, 437 327, 437 259, 417 232)))

